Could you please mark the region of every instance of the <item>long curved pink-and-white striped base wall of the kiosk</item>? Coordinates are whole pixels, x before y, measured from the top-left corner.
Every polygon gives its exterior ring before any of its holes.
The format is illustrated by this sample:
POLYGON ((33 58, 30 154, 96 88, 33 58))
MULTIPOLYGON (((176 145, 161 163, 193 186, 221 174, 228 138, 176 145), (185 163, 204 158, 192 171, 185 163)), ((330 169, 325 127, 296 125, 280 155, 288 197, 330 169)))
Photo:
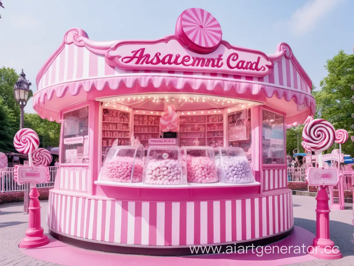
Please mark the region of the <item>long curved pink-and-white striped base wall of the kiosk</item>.
POLYGON ((65 235, 143 246, 242 242, 293 226, 291 191, 241 200, 96 200, 50 191, 48 226, 65 235))

